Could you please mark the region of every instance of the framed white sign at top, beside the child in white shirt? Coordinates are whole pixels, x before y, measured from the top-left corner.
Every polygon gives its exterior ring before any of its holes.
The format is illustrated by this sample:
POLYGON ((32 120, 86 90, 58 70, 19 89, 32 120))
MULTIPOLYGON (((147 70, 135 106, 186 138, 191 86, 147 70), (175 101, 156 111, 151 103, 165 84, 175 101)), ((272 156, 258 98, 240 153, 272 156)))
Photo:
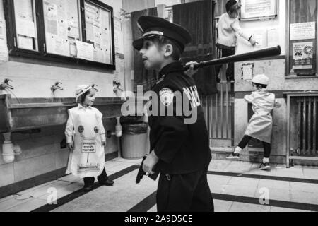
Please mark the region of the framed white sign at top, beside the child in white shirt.
POLYGON ((278 0, 240 0, 240 20, 274 18, 278 12, 278 0))

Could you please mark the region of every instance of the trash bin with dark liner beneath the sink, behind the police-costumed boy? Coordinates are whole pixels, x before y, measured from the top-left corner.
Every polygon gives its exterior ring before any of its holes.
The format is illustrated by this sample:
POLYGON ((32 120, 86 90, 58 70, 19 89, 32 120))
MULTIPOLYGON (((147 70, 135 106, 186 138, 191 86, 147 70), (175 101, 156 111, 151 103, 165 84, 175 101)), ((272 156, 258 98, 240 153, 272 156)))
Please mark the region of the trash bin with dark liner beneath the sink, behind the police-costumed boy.
POLYGON ((148 123, 129 122, 122 124, 122 157, 139 159, 148 153, 148 123))

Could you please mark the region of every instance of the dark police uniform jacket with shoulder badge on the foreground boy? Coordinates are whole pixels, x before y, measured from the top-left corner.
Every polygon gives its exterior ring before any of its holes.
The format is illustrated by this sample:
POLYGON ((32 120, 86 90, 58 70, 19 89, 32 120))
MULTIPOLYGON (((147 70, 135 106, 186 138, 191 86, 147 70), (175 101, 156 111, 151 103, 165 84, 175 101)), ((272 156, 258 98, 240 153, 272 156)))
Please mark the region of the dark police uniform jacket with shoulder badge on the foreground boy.
MULTIPOLYGON (((182 98, 188 102, 187 106, 197 112, 197 119, 192 124, 184 121, 191 116, 184 114, 183 109, 181 115, 177 114, 176 107, 173 107, 173 116, 153 114, 148 117, 151 128, 151 150, 155 151, 160 159, 155 166, 155 172, 164 174, 196 172, 205 169, 211 161, 208 131, 201 101, 193 78, 180 72, 182 68, 180 61, 168 64, 160 71, 160 80, 152 88, 158 97, 158 100, 152 101, 153 106, 158 102, 158 106, 166 107, 165 104, 170 102, 170 94, 179 91, 182 98)), ((179 96, 172 95, 172 97, 171 105, 175 106, 179 96)))

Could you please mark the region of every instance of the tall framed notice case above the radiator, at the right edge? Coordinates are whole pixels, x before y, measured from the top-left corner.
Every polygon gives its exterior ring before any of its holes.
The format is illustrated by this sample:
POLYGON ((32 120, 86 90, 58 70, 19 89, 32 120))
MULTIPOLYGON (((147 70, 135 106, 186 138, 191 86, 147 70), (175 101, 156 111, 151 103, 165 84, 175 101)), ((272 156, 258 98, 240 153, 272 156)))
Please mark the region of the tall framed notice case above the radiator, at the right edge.
POLYGON ((286 76, 317 77, 317 1, 287 1, 286 76))

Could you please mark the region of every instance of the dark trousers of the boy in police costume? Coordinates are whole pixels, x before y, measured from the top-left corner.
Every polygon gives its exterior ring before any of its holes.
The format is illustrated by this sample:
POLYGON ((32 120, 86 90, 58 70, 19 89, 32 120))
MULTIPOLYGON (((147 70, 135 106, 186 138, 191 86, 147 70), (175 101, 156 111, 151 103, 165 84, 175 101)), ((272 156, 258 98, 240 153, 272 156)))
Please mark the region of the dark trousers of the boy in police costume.
POLYGON ((160 174, 158 212, 213 212, 207 172, 206 168, 189 174, 160 174))

